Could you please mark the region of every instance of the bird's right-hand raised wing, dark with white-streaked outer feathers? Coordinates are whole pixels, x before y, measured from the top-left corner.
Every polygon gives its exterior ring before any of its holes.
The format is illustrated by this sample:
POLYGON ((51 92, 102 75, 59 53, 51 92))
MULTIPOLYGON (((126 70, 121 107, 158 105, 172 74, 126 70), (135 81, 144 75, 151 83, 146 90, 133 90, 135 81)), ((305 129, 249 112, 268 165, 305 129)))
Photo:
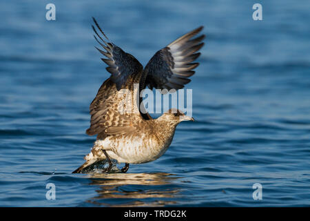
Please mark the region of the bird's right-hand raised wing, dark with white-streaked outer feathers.
POLYGON ((192 63, 196 60, 203 47, 201 42, 205 35, 200 35, 193 39, 203 26, 188 32, 182 37, 176 39, 165 48, 158 50, 145 66, 144 74, 146 75, 145 86, 150 89, 180 89, 191 81, 188 77, 194 75, 194 68, 198 63, 192 63))

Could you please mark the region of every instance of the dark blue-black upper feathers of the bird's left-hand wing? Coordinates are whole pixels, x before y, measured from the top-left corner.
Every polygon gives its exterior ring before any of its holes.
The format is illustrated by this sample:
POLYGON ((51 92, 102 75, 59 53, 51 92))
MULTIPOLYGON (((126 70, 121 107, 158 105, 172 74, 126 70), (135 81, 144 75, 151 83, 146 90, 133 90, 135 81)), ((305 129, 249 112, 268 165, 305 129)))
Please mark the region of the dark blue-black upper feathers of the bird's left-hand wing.
MULTIPOLYGON (((92 18, 94 19, 94 18, 92 18)), ((103 36, 109 40, 103 30, 101 30, 99 24, 97 23, 96 19, 94 19, 94 23, 96 24, 96 27, 100 30, 100 32, 103 34, 103 36)), ((124 52, 121 48, 116 46, 115 44, 111 42, 106 42, 96 31, 96 28, 92 26, 92 29, 94 30, 95 34, 94 38, 98 43, 106 50, 103 51, 97 47, 95 47, 101 54, 105 55, 106 58, 102 58, 102 60, 105 62, 105 64, 108 65, 106 68, 109 73, 111 73, 111 80, 116 84, 117 90, 120 90, 121 87, 126 83, 128 77, 132 74, 139 73, 143 66, 140 64, 140 62, 132 55, 124 52), (100 42, 97 37, 101 39, 100 42)))

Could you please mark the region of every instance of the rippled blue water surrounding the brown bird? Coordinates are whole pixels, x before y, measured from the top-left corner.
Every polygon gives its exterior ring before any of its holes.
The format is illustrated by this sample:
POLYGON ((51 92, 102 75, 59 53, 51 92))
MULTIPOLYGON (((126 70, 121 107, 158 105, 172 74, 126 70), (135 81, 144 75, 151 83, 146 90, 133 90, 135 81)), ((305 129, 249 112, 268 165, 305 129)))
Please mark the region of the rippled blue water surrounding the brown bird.
POLYGON ((0 206, 310 206, 309 1, 52 1, 56 21, 47 3, 0 1, 0 206), (193 28, 207 35, 187 84, 196 122, 126 174, 71 174, 109 77, 92 16, 143 65, 193 28))

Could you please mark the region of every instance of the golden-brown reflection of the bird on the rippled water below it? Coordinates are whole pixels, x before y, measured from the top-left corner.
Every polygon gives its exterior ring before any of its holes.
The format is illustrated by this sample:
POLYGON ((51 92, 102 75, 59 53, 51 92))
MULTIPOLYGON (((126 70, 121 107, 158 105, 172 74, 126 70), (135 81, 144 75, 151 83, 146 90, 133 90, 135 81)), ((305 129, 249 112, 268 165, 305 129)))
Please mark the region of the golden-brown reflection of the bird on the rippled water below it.
POLYGON ((176 204, 174 198, 180 196, 173 183, 178 177, 169 173, 94 173, 88 177, 90 185, 99 186, 98 195, 87 200, 96 206, 165 206, 176 204))

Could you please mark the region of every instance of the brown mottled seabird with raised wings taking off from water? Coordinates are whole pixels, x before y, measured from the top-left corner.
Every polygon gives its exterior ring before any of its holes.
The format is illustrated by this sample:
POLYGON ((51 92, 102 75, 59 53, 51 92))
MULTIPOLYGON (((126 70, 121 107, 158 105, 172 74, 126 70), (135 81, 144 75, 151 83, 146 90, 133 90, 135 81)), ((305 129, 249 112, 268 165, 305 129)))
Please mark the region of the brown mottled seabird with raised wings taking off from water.
POLYGON ((72 173, 83 173, 103 160, 109 164, 103 173, 111 171, 112 160, 125 163, 121 172, 126 173, 130 164, 152 162, 161 157, 172 143, 176 126, 183 121, 194 121, 176 108, 154 119, 145 113, 138 95, 146 87, 150 90, 184 88, 198 66, 193 61, 200 56, 198 51, 204 45, 205 35, 200 35, 203 26, 187 32, 158 50, 143 68, 134 56, 112 43, 96 19, 92 19, 96 26, 92 25, 94 39, 102 47, 95 48, 105 56, 102 61, 111 75, 90 104, 90 128, 86 133, 97 135, 96 141, 85 155, 85 163, 72 173))

